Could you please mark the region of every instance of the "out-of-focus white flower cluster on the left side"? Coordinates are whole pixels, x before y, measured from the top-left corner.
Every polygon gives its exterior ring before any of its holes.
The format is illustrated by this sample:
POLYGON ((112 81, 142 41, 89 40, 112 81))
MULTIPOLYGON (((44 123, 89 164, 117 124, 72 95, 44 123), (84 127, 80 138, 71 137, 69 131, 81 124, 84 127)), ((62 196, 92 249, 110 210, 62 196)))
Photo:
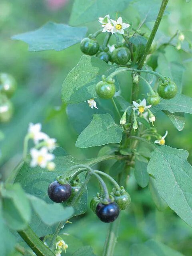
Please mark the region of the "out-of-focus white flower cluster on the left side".
POLYGON ((34 148, 30 149, 31 162, 30 166, 40 166, 48 170, 54 170, 55 163, 52 162, 54 154, 50 151, 56 147, 56 139, 50 138, 46 133, 41 131, 41 124, 29 124, 26 138, 34 141, 34 148))

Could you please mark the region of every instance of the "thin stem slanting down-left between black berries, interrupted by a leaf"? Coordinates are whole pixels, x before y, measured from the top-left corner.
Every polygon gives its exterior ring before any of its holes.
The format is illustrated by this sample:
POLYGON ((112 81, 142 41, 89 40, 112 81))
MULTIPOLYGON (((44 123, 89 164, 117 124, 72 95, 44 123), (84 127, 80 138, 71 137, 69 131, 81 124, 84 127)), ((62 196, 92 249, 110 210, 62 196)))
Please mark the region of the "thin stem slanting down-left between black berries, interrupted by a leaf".
MULTIPOLYGON (((83 190, 84 188, 86 187, 87 183, 89 182, 90 178, 91 178, 91 175, 92 175, 92 172, 88 172, 88 175, 84 181, 84 183, 82 184, 80 190, 78 191, 78 193, 74 196, 73 198, 73 201, 71 203, 71 206, 73 207, 74 204, 76 203, 76 201, 80 198, 80 196, 82 195, 83 193, 83 190)), ((54 249, 54 246, 56 244, 56 238, 60 232, 60 229, 62 228, 62 226, 64 226, 65 222, 59 222, 53 236, 52 236, 52 240, 50 242, 50 249, 53 250, 54 249)))

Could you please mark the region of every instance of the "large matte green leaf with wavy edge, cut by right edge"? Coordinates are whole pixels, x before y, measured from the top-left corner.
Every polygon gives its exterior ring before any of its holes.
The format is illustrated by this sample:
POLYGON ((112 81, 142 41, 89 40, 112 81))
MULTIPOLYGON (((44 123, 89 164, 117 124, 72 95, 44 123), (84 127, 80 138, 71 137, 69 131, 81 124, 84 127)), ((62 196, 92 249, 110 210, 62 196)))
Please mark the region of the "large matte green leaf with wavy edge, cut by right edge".
POLYGON ((153 145, 147 171, 155 177, 160 196, 168 206, 192 226, 192 166, 188 152, 169 146, 153 145))

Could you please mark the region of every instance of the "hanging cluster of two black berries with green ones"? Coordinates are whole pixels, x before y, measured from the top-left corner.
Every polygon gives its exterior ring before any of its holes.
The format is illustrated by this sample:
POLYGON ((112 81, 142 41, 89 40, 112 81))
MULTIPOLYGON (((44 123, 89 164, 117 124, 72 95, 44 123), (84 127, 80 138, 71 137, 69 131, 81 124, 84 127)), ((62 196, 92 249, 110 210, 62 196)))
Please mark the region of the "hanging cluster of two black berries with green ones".
MULTIPOLYGON (((102 222, 113 222, 118 217, 120 210, 125 210, 130 206, 130 195, 124 187, 119 187, 116 181, 108 176, 108 174, 94 170, 91 172, 99 178, 98 180, 103 186, 103 191, 97 193, 97 196, 92 198, 90 208, 102 222), (115 188, 112 189, 110 195, 108 195, 106 184, 96 172, 104 174, 114 183, 115 188)), ((53 202, 66 202, 67 204, 73 205, 74 198, 80 196, 81 186, 82 184, 80 184, 80 180, 76 174, 67 179, 59 176, 58 180, 55 180, 48 186, 48 196, 53 202)))

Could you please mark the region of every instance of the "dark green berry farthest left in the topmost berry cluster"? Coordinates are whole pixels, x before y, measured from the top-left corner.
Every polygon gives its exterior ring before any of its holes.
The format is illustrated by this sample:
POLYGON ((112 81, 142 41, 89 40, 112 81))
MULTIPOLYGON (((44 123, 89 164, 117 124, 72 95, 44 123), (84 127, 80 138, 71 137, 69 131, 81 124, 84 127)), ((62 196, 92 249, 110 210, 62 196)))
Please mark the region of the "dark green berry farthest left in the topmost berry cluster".
POLYGON ((80 49, 84 54, 94 55, 99 50, 99 44, 94 38, 86 37, 80 42, 80 49))

